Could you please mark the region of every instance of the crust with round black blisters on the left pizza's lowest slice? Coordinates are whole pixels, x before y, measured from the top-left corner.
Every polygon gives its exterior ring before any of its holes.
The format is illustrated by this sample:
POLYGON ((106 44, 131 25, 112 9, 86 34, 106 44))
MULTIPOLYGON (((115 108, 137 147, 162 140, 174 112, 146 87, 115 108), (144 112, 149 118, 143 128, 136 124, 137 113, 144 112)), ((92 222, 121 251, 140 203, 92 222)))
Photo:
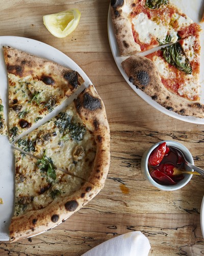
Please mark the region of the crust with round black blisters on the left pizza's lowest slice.
POLYGON ((55 200, 40 210, 13 217, 9 227, 10 242, 34 236, 57 226, 91 201, 101 188, 85 182, 70 196, 60 197, 60 200, 55 200))

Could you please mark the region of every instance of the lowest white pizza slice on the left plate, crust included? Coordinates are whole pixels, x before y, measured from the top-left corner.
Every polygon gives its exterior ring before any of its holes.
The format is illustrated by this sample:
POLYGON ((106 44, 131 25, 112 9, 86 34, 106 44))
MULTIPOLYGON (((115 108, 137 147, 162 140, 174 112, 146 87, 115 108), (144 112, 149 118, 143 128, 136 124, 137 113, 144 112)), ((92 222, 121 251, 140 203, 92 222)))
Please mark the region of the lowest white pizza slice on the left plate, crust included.
POLYGON ((15 151, 15 212, 11 242, 47 231, 69 218, 102 188, 65 174, 52 160, 15 151))

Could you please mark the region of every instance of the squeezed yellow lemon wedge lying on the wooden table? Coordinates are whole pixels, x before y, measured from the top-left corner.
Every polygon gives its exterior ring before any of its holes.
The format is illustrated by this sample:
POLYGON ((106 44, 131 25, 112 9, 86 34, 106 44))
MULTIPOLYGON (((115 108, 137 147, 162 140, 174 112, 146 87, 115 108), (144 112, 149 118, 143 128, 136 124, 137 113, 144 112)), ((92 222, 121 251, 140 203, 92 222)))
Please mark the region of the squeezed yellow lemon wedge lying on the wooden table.
POLYGON ((43 16, 47 30, 56 37, 64 38, 77 28, 81 17, 78 9, 62 11, 43 16))

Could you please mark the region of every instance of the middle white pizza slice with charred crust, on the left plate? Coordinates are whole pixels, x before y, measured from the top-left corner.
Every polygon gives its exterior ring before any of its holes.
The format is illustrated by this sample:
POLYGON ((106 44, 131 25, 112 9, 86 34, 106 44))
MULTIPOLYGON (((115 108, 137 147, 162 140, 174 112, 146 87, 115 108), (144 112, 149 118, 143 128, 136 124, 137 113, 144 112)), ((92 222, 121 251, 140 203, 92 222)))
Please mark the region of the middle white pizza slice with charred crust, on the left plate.
POLYGON ((57 168, 101 186, 110 165, 110 130, 104 103, 90 86, 65 111, 14 146, 38 159, 51 157, 57 168))

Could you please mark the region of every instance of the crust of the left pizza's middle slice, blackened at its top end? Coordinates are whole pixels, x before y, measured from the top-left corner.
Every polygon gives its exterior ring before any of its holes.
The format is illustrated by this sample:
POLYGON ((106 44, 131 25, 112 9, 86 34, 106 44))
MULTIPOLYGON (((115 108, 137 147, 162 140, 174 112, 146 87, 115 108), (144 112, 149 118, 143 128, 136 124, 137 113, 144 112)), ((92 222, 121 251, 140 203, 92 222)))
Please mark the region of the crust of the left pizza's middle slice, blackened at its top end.
POLYGON ((110 129, 104 103, 94 87, 89 86, 74 100, 74 105, 96 142, 94 166, 88 181, 103 187, 110 166, 110 129))

